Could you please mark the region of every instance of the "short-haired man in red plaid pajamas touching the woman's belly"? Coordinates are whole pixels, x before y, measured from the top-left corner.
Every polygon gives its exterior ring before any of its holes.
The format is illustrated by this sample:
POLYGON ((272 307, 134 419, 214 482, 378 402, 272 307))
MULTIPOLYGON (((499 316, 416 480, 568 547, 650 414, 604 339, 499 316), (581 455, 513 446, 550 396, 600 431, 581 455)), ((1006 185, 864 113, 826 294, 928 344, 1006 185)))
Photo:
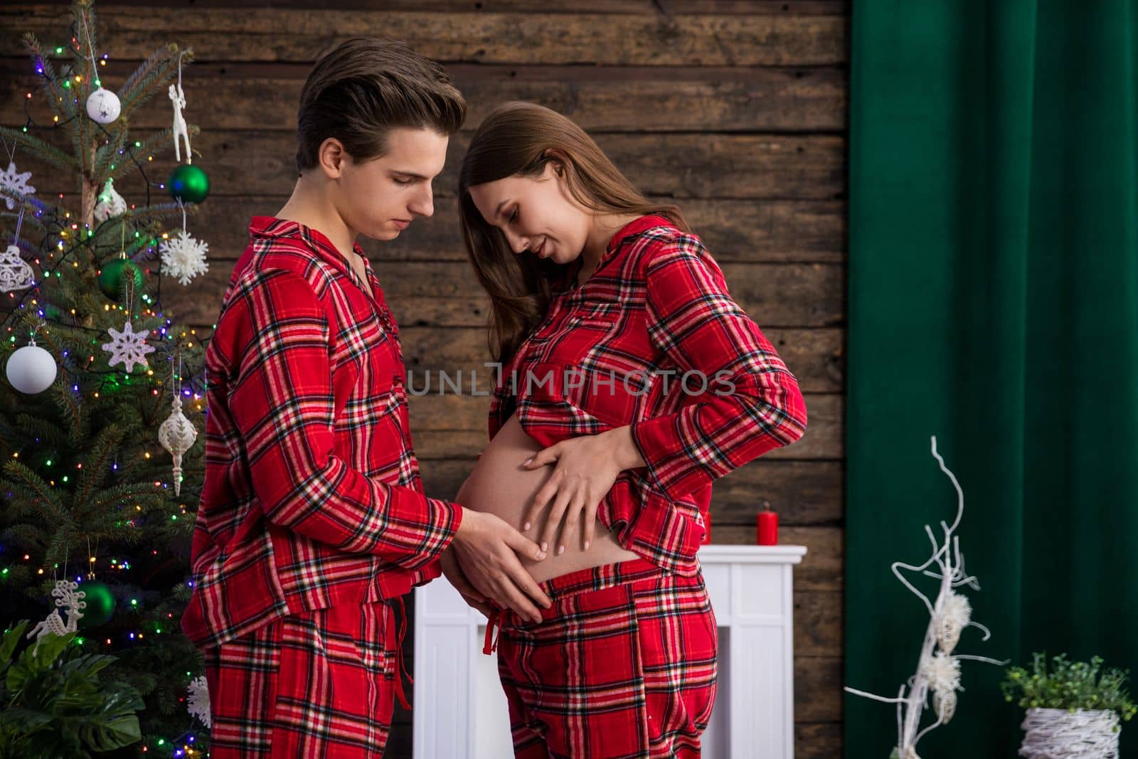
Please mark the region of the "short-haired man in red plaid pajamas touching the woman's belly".
POLYGON ((348 40, 305 82, 299 179, 253 220, 206 353, 182 627, 205 654, 215 759, 381 756, 405 704, 393 607, 452 543, 487 597, 530 617, 549 605, 516 553, 544 558, 535 543, 423 495, 398 329, 355 242, 434 213, 464 115, 404 43, 348 40))

